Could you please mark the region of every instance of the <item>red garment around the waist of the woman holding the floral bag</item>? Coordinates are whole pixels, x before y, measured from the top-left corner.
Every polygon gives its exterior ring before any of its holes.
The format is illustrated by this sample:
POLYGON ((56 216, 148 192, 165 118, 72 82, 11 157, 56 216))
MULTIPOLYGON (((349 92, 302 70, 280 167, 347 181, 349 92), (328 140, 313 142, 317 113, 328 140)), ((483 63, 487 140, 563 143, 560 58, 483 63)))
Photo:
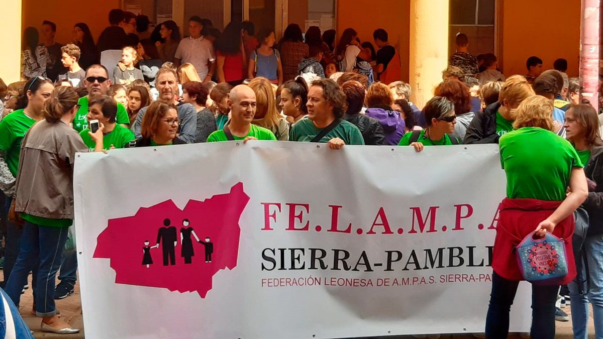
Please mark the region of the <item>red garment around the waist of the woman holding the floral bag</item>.
MULTIPOLYGON (((560 204, 561 201, 537 199, 505 198, 502 200, 492 253, 492 268, 496 274, 508 280, 525 280, 517 264, 515 247, 523 238, 533 232, 541 221, 551 216, 560 204)), ((576 263, 573 259, 572 247, 573 229, 572 214, 558 223, 553 230, 553 235, 563 239, 566 246, 567 276, 560 282, 560 285, 566 285, 576 277, 576 263)))

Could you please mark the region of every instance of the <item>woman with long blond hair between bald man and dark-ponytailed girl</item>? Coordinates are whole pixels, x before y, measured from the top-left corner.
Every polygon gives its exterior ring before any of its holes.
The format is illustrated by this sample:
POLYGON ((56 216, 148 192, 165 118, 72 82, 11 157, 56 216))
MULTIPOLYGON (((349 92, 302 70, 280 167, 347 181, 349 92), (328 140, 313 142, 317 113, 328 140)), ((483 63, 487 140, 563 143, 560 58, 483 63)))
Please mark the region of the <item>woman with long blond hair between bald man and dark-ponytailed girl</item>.
POLYGON ((248 85, 256 93, 256 115, 253 124, 268 128, 277 140, 289 140, 289 124, 276 109, 274 90, 267 78, 254 78, 248 85))

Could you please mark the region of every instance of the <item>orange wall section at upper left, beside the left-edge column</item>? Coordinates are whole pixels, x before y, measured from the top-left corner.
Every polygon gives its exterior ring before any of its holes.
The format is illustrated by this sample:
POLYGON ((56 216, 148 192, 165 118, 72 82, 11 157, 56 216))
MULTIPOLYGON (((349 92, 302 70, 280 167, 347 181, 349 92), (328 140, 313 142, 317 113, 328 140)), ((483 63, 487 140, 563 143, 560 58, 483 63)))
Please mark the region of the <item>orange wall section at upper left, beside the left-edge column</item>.
MULTIPOLYGON (((20 0, 7 0, 20 1, 20 0)), ((22 30, 25 27, 42 27, 42 21, 49 20, 57 24, 55 41, 69 43, 73 41, 73 27, 78 22, 84 22, 90 27, 94 39, 98 39, 101 31, 109 26, 109 11, 121 6, 120 0, 103 1, 40 1, 21 0, 22 30)))

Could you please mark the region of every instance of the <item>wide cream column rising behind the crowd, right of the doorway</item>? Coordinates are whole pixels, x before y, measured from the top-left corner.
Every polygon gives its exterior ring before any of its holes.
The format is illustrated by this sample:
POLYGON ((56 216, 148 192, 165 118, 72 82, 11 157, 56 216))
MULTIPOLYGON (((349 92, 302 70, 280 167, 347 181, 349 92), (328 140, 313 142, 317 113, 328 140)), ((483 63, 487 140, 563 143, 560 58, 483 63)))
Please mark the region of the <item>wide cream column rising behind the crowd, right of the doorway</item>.
POLYGON ((418 107, 434 96, 448 65, 449 0, 411 0, 409 81, 418 107))

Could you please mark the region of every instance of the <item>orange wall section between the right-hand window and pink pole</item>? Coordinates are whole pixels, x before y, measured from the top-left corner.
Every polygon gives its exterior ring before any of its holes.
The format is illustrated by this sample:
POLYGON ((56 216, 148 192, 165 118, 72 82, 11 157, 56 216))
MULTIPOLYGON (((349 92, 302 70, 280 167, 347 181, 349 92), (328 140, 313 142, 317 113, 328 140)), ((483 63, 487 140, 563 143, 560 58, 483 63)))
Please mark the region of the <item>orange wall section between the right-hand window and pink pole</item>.
POLYGON ((531 55, 552 69, 558 58, 567 60, 570 77, 578 75, 580 1, 505 0, 502 16, 502 60, 505 75, 526 74, 531 55))

